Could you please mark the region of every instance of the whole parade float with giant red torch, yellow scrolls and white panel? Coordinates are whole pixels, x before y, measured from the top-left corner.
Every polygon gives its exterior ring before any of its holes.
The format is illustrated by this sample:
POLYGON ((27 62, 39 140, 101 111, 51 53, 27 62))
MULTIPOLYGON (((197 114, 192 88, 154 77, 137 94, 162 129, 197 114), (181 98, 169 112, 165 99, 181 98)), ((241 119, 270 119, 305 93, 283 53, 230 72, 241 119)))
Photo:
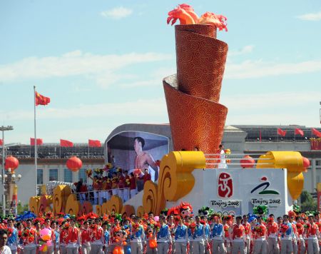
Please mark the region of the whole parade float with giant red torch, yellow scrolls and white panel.
POLYGON ((243 158, 239 168, 219 166, 218 147, 228 113, 219 102, 228 44, 216 36, 218 30, 227 31, 226 18, 209 12, 198 18, 186 4, 168 15, 168 23, 180 21, 175 26, 177 73, 163 79, 174 151, 163 156, 158 181, 147 181, 126 203, 112 195, 96 206, 80 203, 70 186, 58 185, 52 195, 31 197, 31 212, 159 215, 183 202, 194 210, 208 206, 223 215, 253 213, 258 207, 282 215, 292 209, 306 168, 300 153, 270 151, 256 161, 243 158), (193 151, 195 147, 199 151, 193 151))

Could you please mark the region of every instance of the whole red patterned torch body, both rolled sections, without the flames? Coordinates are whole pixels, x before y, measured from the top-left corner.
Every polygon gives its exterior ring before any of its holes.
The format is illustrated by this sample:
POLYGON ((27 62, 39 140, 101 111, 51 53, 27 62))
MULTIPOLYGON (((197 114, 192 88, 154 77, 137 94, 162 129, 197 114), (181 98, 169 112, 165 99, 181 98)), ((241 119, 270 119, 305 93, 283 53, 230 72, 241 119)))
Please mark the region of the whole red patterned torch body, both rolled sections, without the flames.
POLYGON ((228 108, 218 103, 228 44, 213 25, 175 26, 177 80, 163 81, 175 151, 218 151, 228 108))

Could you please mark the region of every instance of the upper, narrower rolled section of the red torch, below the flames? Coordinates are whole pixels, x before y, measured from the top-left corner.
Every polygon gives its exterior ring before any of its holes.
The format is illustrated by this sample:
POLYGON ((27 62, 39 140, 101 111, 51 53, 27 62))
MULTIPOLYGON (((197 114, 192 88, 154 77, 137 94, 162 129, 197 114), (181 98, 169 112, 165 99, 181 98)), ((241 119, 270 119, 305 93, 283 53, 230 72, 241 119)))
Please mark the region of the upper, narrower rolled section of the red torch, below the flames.
POLYGON ((175 26, 178 89, 218 102, 228 44, 214 36, 213 25, 175 26))

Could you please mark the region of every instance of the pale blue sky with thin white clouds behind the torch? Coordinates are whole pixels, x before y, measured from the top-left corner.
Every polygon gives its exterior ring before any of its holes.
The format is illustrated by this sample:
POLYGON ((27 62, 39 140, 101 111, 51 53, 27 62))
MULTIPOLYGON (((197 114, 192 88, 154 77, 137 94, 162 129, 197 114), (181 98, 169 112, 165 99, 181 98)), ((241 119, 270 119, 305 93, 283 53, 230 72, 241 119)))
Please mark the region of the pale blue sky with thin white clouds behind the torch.
MULTIPOLYGON (((220 103, 226 124, 320 127, 321 2, 188 1, 228 18, 220 103)), ((123 123, 168 123, 162 78, 175 73, 175 1, 0 1, 0 121, 6 143, 37 136, 104 141, 123 123)))

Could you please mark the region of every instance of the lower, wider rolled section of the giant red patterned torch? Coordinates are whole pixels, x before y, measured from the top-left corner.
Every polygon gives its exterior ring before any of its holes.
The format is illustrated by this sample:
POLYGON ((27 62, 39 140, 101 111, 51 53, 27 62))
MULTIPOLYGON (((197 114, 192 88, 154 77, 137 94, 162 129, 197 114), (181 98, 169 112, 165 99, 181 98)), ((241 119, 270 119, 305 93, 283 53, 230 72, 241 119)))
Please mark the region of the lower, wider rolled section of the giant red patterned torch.
POLYGON ((174 76, 163 83, 174 150, 193 151, 198 146, 204 153, 218 151, 228 108, 178 91, 174 76))

